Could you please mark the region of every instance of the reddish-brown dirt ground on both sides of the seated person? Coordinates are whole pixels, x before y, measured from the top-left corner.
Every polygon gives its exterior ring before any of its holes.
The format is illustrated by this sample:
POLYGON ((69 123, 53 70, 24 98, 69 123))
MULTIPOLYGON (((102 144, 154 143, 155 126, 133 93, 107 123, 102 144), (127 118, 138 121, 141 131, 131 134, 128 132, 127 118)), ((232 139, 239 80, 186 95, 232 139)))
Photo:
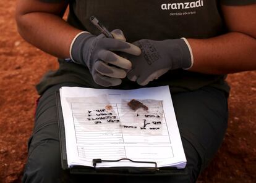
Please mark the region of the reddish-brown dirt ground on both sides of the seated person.
MULTIPOLYGON (((33 128, 35 84, 56 59, 17 34, 15 0, 0 1, 0 182, 20 182, 33 128)), ((218 154, 198 183, 256 180, 256 71, 228 76, 229 127, 218 154)))

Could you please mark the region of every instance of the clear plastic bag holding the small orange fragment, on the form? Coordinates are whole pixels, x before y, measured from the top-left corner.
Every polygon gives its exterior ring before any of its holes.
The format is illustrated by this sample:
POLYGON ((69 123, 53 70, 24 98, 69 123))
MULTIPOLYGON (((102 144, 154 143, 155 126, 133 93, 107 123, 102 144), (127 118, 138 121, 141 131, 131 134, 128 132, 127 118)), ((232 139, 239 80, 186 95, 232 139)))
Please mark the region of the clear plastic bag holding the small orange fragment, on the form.
POLYGON ((74 123, 83 129, 120 129, 117 107, 111 105, 106 94, 96 97, 67 98, 74 123))

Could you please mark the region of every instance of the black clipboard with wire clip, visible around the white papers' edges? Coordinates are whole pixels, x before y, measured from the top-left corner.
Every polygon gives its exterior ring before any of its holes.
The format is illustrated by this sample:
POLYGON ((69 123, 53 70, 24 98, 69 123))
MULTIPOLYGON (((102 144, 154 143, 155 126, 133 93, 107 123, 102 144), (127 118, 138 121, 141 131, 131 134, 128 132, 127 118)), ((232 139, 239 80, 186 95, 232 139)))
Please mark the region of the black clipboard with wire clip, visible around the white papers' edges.
POLYGON ((59 127, 59 142, 60 142, 60 150, 61 150, 61 166, 64 170, 69 170, 71 174, 96 174, 96 175, 118 175, 118 176, 186 176, 187 168, 177 169, 176 167, 161 167, 158 168, 155 162, 149 161, 134 161, 128 158, 122 158, 119 160, 101 160, 101 159, 93 159, 93 166, 82 166, 75 165, 69 167, 67 164, 67 152, 66 152, 66 135, 65 135, 65 126, 64 126, 64 118, 62 114, 61 108, 61 98, 59 91, 56 92, 56 106, 57 106, 57 114, 58 114, 58 127, 59 127), (152 163, 155 167, 108 167, 108 168, 96 168, 98 163, 102 163, 104 161, 108 162, 116 162, 122 160, 129 160, 134 163, 152 163))

